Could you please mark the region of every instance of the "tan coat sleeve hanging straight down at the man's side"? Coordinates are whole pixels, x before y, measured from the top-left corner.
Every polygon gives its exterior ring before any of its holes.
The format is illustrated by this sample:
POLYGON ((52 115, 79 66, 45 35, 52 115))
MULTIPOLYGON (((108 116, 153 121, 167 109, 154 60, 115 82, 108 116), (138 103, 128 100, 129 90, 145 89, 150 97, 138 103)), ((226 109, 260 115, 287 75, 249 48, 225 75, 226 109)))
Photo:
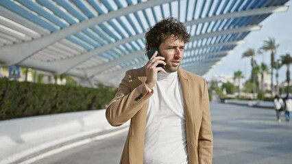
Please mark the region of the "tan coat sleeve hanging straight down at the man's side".
POLYGON ((210 102, 206 81, 204 81, 202 107, 203 107, 202 124, 199 131, 197 150, 199 155, 199 163, 210 164, 212 163, 213 135, 211 129, 210 102))

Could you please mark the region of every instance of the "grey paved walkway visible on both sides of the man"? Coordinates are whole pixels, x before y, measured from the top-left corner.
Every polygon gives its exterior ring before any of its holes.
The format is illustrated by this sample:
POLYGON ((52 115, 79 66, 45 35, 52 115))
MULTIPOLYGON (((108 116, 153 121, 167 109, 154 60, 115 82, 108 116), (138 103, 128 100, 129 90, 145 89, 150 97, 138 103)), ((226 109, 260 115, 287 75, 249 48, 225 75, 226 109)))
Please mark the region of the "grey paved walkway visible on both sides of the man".
MULTIPOLYGON (((211 103, 214 164, 292 163, 292 122, 272 109, 211 103)), ((80 146, 35 164, 119 163, 126 134, 80 146)))

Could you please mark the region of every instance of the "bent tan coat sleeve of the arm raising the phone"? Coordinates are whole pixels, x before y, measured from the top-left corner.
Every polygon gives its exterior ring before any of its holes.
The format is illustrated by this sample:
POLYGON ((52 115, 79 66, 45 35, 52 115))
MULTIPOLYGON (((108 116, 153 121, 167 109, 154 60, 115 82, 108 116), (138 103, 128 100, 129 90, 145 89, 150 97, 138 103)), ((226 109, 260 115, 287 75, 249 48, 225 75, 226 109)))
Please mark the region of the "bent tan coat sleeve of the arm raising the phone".
POLYGON ((106 119, 112 126, 121 126, 130 120, 145 103, 151 92, 145 83, 131 89, 133 78, 130 72, 125 73, 125 77, 119 84, 119 90, 106 108, 106 119))

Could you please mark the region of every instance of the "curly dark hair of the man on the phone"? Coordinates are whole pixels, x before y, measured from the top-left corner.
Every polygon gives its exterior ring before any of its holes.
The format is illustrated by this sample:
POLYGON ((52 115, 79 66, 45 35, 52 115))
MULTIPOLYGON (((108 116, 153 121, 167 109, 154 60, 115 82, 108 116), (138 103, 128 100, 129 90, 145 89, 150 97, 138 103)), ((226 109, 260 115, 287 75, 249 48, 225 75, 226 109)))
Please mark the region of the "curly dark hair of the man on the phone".
POLYGON ((176 39, 182 40, 184 43, 191 38, 184 24, 177 18, 165 18, 156 23, 154 27, 147 29, 145 33, 146 51, 154 47, 158 48, 169 36, 175 36, 176 39))

